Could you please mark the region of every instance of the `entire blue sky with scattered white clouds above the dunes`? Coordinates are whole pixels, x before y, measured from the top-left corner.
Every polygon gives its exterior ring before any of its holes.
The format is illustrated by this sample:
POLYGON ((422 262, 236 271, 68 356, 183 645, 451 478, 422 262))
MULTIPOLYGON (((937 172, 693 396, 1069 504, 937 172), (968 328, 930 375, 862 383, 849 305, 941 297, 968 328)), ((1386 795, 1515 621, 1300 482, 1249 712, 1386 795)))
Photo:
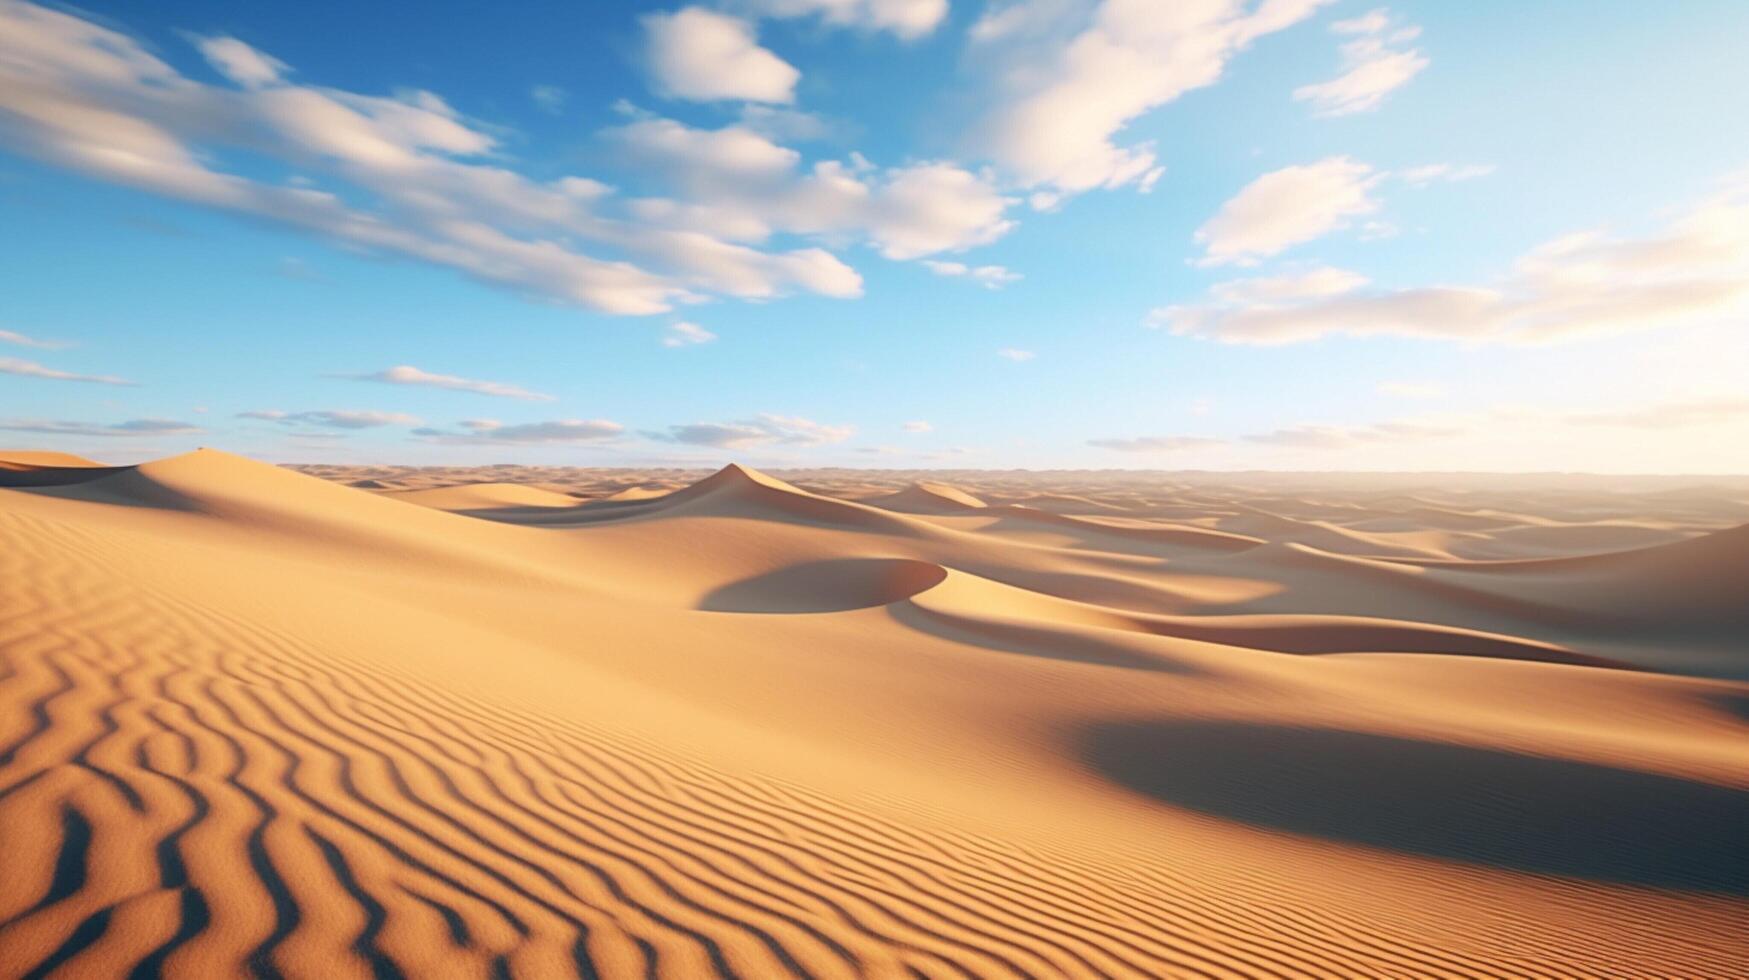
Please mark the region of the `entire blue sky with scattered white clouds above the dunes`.
POLYGON ((1749 7, 0 2, 0 443, 1749 471, 1749 7))

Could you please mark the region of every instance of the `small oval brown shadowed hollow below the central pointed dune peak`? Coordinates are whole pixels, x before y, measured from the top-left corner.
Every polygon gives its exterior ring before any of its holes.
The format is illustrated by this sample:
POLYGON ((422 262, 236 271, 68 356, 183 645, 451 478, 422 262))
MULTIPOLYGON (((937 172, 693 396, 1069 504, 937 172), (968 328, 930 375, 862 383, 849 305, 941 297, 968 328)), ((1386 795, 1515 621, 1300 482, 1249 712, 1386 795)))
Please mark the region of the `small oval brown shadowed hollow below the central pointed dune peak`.
POLYGON ((698 609, 843 612, 909 598, 946 578, 941 565, 911 558, 826 558, 719 586, 698 602, 698 609))

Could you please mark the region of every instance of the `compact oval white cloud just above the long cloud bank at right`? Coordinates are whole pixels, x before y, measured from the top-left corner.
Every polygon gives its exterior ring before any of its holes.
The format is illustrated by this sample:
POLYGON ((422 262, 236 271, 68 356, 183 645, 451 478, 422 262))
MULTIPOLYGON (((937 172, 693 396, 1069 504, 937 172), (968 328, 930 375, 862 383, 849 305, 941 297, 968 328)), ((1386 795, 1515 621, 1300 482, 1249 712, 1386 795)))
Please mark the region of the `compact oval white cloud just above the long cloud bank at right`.
POLYGON ((1373 214, 1378 178, 1371 166, 1345 156, 1265 173, 1196 229, 1202 264, 1254 262, 1373 214))

